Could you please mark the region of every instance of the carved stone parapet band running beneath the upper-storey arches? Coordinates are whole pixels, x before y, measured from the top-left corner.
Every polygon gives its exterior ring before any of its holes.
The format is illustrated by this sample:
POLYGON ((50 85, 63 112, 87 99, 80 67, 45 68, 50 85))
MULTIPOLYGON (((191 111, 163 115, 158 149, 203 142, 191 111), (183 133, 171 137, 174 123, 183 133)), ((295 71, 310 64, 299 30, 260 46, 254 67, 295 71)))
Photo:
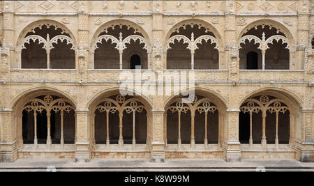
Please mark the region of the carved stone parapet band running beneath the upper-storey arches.
MULTIPOLYGON (((164 77, 170 76, 191 79, 195 78, 195 82, 228 82, 228 70, 163 70, 160 71, 164 77)), ((159 73, 160 73, 159 72, 159 73)), ((135 79, 135 76, 142 77, 142 81, 157 79, 158 73, 154 70, 87 70, 84 81, 87 82, 119 82, 125 79, 135 79), (138 73, 138 74, 137 74, 138 73), (156 78, 151 78, 149 75, 154 74, 156 78)), ((75 69, 60 70, 60 69, 11 69, 11 81, 25 82, 77 82, 82 77, 75 69)), ((178 79, 177 78, 177 79, 178 79)), ((4 77, 4 79, 7 79, 4 77)), ((303 82, 304 70, 240 70, 240 82, 303 82)))

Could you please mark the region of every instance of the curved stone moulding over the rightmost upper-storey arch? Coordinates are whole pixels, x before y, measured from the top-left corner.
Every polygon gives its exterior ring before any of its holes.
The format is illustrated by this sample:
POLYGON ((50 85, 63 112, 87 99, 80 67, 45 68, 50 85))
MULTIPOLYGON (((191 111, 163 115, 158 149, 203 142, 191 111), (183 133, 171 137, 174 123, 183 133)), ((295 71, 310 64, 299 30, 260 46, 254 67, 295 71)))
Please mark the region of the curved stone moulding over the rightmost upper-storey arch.
POLYGON ((263 19, 263 20, 256 20, 254 22, 251 22, 250 24, 248 24, 247 26, 244 27, 244 29, 242 29, 242 31, 239 33, 237 40, 239 41, 241 39, 241 37, 244 35, 244 33, 246 33, 249 29, 252 29, 255 26, 258 25, 270 25, 276 29, 279 29, 282 33, 285 34, 285 37, 289 40, 290 42, 290 47, 293 49, 294 48, 294 44, 296 43, 294 40, 294 37, 292 36, 292 33, 289 29, 287 29, 287 27, 285 27, 283 24, 281 24, 280 22, 277 22, 276 20, 270 20, 270 19, 263 19))

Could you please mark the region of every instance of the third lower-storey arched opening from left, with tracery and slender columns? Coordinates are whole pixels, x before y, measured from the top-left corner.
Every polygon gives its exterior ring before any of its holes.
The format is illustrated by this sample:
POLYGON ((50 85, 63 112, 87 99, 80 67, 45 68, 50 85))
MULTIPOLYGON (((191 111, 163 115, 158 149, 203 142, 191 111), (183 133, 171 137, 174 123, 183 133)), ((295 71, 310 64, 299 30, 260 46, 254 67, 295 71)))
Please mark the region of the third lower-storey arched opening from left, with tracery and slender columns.
POLYGON ((223 141, 225 105, 216 95, 195 91, 174 96, 165 105, 164 141, 168 152, 218 150, 223 141))

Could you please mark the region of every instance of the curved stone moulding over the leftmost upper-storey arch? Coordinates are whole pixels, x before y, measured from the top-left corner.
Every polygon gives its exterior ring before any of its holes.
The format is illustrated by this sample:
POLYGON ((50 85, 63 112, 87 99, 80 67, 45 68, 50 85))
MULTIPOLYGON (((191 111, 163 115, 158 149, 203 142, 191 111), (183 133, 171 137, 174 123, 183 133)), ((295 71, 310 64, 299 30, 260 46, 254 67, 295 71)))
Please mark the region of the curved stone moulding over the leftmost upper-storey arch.
POLYGON ((36 20, 36 21, 31 22, 30 24, 27 24, 27 26, 24 26, 24 28, 20 32, 19 36, 17 37, 16 46, 18 47, 18 46, 22 45, 22 41, 25 38, 25 36, 27 35, 27 33, 29 33, 29 31, 31 31, 32 29, 35 29, 37 26, 47 25, 47 24, 51 24, 53 26, 58 26, 59 29, 62 29, 64 32, 68 33, 70 35, 70 38, 73 40, 74 45, 77 46, 77 40, 73 34, 73 31, 71 31, 67 26, 65 26, 61 22, 58 22, 56 20, 49 20, 49 19, 36 20))

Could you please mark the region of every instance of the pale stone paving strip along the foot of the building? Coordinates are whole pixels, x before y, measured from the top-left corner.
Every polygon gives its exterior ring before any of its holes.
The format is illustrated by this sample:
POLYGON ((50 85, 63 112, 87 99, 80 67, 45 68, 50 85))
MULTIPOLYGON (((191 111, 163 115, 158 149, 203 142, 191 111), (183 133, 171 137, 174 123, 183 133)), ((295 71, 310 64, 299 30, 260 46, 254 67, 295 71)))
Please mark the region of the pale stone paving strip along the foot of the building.
POLYGON ((314 163, 296 160, 251 160, 225 162, 223 159, 172 159, 166 162, 149 162, 148 159, 92 159, 77 163, 73 159, 19 159, 13 163, 0 163, 0 171, 312 171, 314 163))

